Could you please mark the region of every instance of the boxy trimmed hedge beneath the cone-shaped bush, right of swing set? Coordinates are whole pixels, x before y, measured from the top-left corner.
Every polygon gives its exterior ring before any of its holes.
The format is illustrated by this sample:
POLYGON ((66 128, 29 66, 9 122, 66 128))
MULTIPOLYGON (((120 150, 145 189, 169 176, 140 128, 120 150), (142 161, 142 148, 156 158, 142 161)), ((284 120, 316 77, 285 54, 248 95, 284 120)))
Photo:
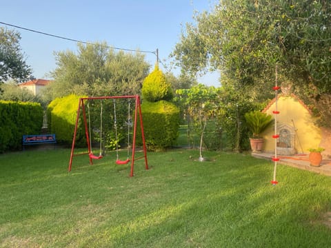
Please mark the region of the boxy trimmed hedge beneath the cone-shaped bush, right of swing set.
MULTIPOLYGON (((143 131, 149 150, 172 147, 179 135, 179 108, 168 101, 143 101, 143 131)), ((141 142, 141 131, 137 134, 141 142)))

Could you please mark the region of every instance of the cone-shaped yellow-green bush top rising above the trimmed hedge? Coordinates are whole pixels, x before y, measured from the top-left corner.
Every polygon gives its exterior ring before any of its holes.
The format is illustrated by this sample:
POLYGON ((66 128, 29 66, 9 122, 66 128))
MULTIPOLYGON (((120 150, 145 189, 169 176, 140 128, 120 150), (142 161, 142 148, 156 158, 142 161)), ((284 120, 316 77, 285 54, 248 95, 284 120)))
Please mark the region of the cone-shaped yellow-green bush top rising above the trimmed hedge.
POLYGON ((143 99, 150 102, 172 99, 171 84, 166 81, 165 75, 159 70, 158 65, 155 65, 154 70, 143 80, 141 93, 143 99))

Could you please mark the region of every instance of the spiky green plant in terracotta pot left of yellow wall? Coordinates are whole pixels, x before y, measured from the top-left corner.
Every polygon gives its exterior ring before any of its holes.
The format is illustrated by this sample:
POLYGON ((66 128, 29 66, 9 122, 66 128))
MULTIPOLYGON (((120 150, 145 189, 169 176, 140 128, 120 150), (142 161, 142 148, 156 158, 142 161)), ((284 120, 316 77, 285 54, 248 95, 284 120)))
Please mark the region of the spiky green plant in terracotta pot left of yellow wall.
POLYGON ((253 152, 261 152, 263 147, 263 138, 261 133, 266 130, 272 123, 272 116, 257 110, 245 114, 245 120, 248 129, 253 136, 250 138, 250 147, 253 152))

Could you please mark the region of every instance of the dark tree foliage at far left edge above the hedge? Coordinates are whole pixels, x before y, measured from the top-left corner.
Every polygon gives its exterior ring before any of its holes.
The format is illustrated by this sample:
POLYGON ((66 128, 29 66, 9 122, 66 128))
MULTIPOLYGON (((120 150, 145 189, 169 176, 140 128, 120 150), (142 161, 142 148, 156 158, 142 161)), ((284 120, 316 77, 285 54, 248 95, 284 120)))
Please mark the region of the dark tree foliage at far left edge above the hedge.
POLYGON ((20 39, 19 32, 0 27, 0 83, 10 79, 25 81, 32 72, 21 51, 20 39))

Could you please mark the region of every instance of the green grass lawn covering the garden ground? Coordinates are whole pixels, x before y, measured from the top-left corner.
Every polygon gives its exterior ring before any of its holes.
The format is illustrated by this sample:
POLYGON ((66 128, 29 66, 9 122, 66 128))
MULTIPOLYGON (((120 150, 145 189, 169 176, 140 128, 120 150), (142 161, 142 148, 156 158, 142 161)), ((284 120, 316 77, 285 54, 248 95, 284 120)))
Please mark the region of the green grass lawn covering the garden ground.
MULTIPOLYGON (((70 149, 0 156, 0 247, 331 247, 331 178, 243 154, 150 152, 150 169, 70 149)), ((123 154, 125 156, 125 154, 123 154)))

